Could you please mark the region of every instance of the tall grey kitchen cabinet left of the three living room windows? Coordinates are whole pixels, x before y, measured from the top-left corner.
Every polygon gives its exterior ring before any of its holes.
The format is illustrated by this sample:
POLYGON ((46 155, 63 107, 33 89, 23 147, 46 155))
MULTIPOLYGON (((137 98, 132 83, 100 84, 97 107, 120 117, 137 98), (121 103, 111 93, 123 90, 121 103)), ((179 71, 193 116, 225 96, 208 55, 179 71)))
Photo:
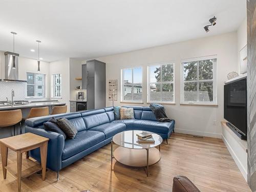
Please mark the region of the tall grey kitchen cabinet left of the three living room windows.
POLYGON ((87 90, 87 110, 106 106, 106 69, 105 63, 89 60, 82 65, 82 89, 87 90))

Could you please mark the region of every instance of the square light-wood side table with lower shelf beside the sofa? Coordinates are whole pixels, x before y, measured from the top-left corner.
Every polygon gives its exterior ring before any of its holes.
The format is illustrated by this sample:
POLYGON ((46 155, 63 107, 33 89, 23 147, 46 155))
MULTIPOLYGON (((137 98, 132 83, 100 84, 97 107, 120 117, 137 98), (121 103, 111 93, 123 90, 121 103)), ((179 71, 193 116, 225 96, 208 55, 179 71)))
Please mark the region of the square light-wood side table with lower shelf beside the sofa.
POLYGON ((6 171, 8 170, 17 179, 18 191, 21 190, 21 180, 39 170, 42 170, 42 180, 45 180, 48 141, 48 138, 33 133, 0 139, 4 179, 6 179, 6 171), (41 165, 30 160, 28 156, 30 150, 38 147, 40 147, 41 165), (9 165, 7 165, 8 148, 17 153, 17 162, 9 165), (26 153, 24 161, 22 159, 23 153, 26 153))

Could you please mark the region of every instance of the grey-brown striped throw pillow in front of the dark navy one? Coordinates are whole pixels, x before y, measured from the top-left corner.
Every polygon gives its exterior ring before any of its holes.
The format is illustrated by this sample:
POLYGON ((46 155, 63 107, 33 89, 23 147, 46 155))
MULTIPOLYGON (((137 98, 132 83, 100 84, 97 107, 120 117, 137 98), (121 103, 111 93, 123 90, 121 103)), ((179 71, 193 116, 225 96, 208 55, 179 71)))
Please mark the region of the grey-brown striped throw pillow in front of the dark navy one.
POLYGON ((71 139, 74 139, 77 130, 76 127, 66 118, 57 119, 59 128, 71 139))

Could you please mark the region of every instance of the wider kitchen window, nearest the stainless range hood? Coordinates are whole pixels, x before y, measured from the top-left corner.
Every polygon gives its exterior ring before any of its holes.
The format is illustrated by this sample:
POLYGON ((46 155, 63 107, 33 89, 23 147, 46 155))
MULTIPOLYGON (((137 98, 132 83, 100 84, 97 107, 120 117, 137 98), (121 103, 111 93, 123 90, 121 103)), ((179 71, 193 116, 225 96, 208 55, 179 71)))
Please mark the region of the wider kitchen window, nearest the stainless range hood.
POLYGON ((45 97, 45 74, 27 73, 27 97, 45 97))

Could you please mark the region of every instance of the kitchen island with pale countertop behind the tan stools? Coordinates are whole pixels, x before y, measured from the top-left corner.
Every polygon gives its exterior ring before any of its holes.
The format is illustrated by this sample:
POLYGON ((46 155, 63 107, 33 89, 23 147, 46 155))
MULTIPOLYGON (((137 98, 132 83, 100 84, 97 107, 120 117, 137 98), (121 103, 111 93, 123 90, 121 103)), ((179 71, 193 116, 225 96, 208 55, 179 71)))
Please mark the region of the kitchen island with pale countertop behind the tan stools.
MULTIPOLYGON (((58 100, 42 100, 42 101, 31 101, 30 103, 24 104, 0 104, 0 111, 9 111, 9 110, 22 110, 22 117, 26 118, 31 110, 31 108, 39 108, 44 106, 49 106, 49 114, 51 114, 52 109, 56 105, 65 105, 66 103, 58 102, 58 100)), ((23 133, 25 132, 25 127, 23 123, 23 133)), ((10 137, 12 136, 13 129, 12 127, 0 127, 0 138, 10 137)), ((19 133, 19 126, 15 126, 15 135, 19 133)))

